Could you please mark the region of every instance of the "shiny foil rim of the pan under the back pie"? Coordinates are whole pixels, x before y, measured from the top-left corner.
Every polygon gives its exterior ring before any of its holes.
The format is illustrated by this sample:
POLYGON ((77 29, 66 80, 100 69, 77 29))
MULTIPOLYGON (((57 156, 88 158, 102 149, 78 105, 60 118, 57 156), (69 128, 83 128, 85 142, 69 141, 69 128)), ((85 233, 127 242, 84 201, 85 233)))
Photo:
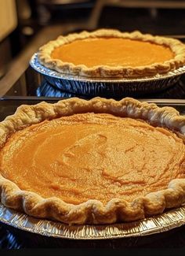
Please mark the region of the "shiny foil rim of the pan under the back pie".
POLYGON ((121 79, 114 79, 111 80, 110 78, 88 78, 88 77, 82 77, 82 76, 70 76, 67 74, 63 74, 60 72, 57 72, 56 70, 46 68, 44 65, 42 65, 38 61, 38 53, 34 53, 30 60, 31 67, 41 73, 45 76, 52 76, 56 79, 61 80, 75 80, 79 82, 91 82, 91 83, 130 83, 130 82, 150 82, 154 80, 164 80, 167 78, 171 78, 174 76, 181 76, 185 72, 185 65, 183 67, 180 67, 179 69, 176 69, 174 71, 167 72, 166 74, 157 74, 155 76, 145 76, 142 78, 121 78, 121 79))

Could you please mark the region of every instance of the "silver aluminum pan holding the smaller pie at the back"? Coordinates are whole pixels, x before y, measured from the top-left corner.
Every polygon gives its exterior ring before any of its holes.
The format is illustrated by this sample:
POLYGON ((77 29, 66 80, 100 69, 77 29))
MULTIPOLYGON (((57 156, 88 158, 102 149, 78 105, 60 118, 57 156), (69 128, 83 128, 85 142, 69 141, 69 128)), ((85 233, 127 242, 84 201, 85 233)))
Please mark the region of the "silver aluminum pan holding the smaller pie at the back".
POLYGON ((185 65, 179 69, 166 74, 157 74, 155 76, 145 76, 142 78, 87 78, 82 76, 70 76, 53 69, 46 68, 38 60, 38 54, 35 53, 30 61, 31 67, 42 74, 45 80, 54 87, 62 91, 71 92, 80 95, 93 96, 127 96, 143 95, 146 93, 163 91, 172 86, 180 79, 185 72, 185 65))

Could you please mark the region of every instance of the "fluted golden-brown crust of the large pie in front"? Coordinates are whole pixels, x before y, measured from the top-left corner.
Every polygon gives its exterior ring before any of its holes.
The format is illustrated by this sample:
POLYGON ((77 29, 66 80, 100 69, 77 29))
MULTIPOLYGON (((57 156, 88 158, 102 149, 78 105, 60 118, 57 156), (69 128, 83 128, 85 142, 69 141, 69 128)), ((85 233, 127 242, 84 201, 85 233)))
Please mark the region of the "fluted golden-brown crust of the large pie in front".
MULTIPOLYGON (((133 98, 123 98, 121 101, 70 98, 56 104, 41 102, 34 106, 20 106, 15 114, 0 123, 0 147, 3 147, 9 135, 27 125, 84 112, 140 118, 151 124, 176 130, 183 135, 185 133, 185 117, 180 116, 180 113, 171 107, 159 108, 154 103, 139 102, 133 98)), ((0 174, 0 198, 5 206, 24 211, 34 217, 50 218, 67 224, 108 224, 136 221, 181 206, 185 202, 185 179, 172 180, 167 189, 136 198, 133 202, 113 198, 106 206, 98 200, 89 200, 74 206, 60 198, 42 198, 33 192, 21 191, 16 184, 0 174)))

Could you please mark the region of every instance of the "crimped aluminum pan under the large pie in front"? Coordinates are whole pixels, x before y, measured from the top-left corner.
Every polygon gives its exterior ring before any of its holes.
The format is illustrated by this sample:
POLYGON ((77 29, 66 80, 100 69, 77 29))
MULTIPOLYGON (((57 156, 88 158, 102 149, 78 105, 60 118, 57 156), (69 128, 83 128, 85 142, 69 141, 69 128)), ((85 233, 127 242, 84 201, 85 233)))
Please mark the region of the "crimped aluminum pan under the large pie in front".
POLYGON ((167 232, 185 224, 185 206, 141 221, 107 225, 67 225, 27 216, 0 203, 0 222, 22 231, 60 239, 121 239, 167 232))

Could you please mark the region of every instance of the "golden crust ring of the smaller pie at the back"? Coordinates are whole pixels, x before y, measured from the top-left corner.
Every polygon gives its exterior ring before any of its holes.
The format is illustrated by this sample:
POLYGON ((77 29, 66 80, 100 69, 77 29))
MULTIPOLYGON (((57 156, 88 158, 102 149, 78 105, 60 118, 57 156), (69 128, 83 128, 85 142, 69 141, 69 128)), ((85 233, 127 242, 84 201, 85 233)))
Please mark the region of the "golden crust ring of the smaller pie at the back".
POLYGON ((46 43, 40 47, 38 51, 38 59, 49 69, 55 69, 57 72, 62 72, 67 75, 73 76, 85 76, 85 77, 143 77, 154 76, 156 74, 164 74, 169 71, 180 68, 185 65, 185 45, 177 39, 170 39, 161 36, 153 36, 149 34, 141 34, 140 32, 119 32, 113 29, 99 29, 95 32, 81 32, 74 33, 67 36, 59 36, 56 40, 46 43), (153 65, 140 66, 136 68, 132 67, 110 67, 106 65, 95 66, 88 68, 85 65, 74 65, 72 63, 63 62, 58 59, 51 58, 52 51, 57 47, 66 43, 71 43, 76 39, 87 39, 96 37, 116 37, 124 39, 139 39, 141 41, 147 41, 151 43, 157 43, 159 45, 169 46, 175 57, 164 63, 154 63, 153 65))

